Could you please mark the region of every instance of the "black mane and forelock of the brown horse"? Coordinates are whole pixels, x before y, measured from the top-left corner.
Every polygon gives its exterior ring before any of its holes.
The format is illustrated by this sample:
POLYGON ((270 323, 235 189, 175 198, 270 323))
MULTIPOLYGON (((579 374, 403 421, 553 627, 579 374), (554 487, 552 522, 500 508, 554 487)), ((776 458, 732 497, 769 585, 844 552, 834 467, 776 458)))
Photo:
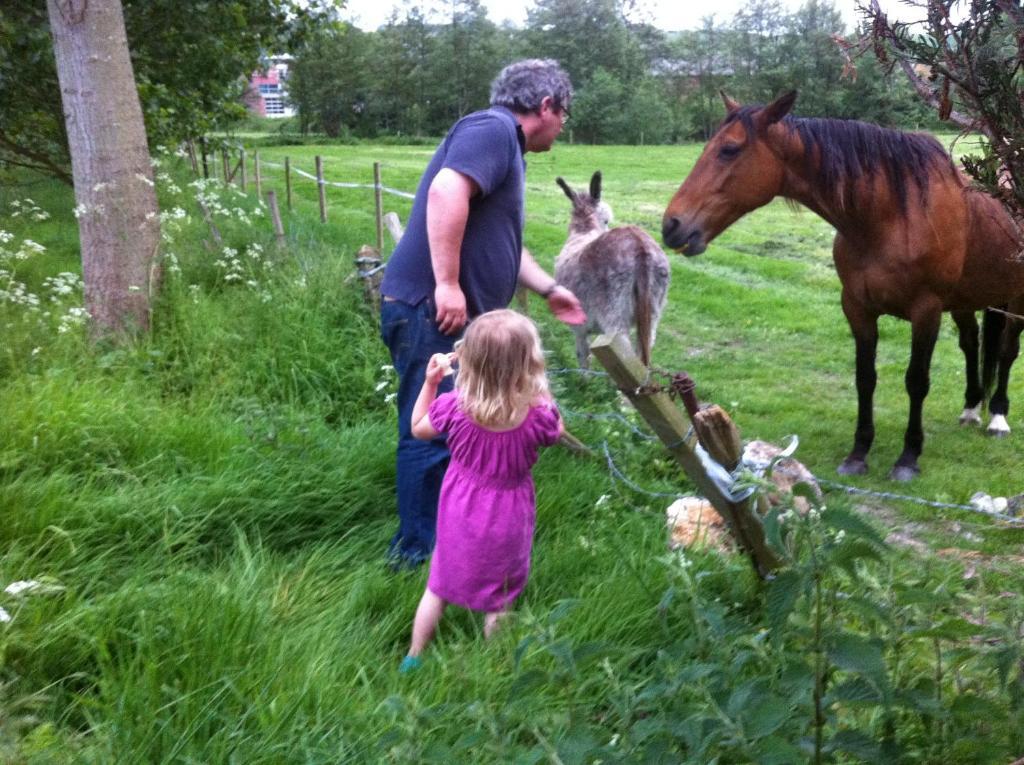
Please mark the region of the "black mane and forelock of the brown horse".
MULTIPOLYGON (((748 134, 754 131, 754 114, 762 107, 748 105, 731 114, 722 127, 739 120, 748 134)), ((942 145, 924 133, 904 133, 857 120, 817 117, 782 119, 782 125, 796 131, 804 144, 804 157, 810 165, 818 155, 817 172, 825 198, 841 206, 852 201, 853 184, 858 178, 884 172, 906 212, 907 179, 922 196, 928 193, 929 174, 939 168, 952 168, 952 160, 942 145)))

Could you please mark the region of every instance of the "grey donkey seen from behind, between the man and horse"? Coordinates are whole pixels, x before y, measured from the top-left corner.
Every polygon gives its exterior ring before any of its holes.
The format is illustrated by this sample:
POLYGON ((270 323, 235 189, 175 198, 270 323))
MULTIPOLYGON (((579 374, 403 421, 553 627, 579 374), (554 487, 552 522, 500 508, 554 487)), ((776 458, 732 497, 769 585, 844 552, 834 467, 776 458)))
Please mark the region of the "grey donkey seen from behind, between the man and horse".
POLYGON ((609 228, 611 210, 601 202, 601 172, 590 179, 590 194, 573 192, 556 180, 572 201, 569 238, 555 258, 555 280, 580 298, 586 324, 573 327, 577 359, 588 368, 587 335, 629 335, 636 327, 635 348, 650 365, 657 322, 669 294, 669 258, 642 228, 609 228))

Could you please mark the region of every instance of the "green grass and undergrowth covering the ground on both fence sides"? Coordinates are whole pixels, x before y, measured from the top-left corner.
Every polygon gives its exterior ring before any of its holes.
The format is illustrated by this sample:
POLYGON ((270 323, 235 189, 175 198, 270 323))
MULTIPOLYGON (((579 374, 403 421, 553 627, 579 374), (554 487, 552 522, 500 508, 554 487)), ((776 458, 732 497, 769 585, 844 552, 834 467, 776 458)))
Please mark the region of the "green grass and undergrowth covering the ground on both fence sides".
MULTIPOLYGON (((530 155, 527 247, 550 266, 568 221, 555 177, 579 186, 598 169, 616 220, 656 235, 698 153, 530 155)), ((316 154, 329 181, 371 183, 376 161, 386 185, 412 192, 430 147, 265 146, 264 188, 284 204, 269 163, 287 155, 311 173, 316 154)), ((536 299, 569 427, 606 442, 643 491, 617 481, 603 458, 546 452, 534 571, 515 621, 485 643, 478 620, 453 612, 423 670, 398 676, 425 571, 392 573, 383 560, 394 524, 394 379, 351 278, 356 249, 375 240, 373 193, 330 187, 322 224, 313 182, 296 178, 284 252, 252 196, 229 194, 218 213, 234 251, 225 254, 208 244, 183 165, 164 163, 162 207, 190 217, 165 226, 174 258, 152 337, 90 347, 80 329, 57 331, 66 303, 0 302, 0 587, 39 583, 0 592, 9 620, 0 762, 1024 754, 1024 614, 1011 595, 1024 585, 1024 530, 834 492, 820 516, 788 521, 791 566, 767 587, 741 556, 670 555, 671 499, 653 495, 685 494, 688 482, 605 380, 571 371, 571 335, 536 299), (908 544, 882 545, 890 532, 908 544)), ((408 216, 407 200, 385 200, 408 216)), ((0 230, 11 235, 2 247, 46 248, 0 264, 5 295, 16 278, 45 296, 48 277, 79 269, 73 204, 68 189, 35 178, 0 186, 0 230), (14 215, 28 198, 50 217, 14 215)), ((797 456, 837 478, 855 392, 830 240, 810 212, 773 203, 699 258, 673 255, 654 364, 686 370, 744 438, 798 434, 797 456)), ((895 320, 881 332, 872 469, 847 482, 955 504, 1024 491, 1019 403, 1006 440, 956 424, 964 382, 948 322, 923 475, 886 479, 905 424, 909 333, 895 320)))

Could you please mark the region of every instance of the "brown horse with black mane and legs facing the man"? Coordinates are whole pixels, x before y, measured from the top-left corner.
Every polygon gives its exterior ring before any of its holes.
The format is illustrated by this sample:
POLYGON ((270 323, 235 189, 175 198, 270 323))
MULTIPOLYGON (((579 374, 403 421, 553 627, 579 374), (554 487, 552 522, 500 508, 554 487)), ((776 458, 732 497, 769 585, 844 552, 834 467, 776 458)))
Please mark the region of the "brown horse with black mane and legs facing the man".
POLYGON ((799 202, 835 226, 833 258, 856 343, 857 375, 857 427, 839 472, 867 471, 882 314, 908 321, 912 336, 905 378, 910 413, 890 477, 909 480, 920 472, 922 410, 943 311, 952 313, 967 362, 961 421, 977 421, 995 377, 989 432, 1009 433, 1007 386, 1024 322, 985 311, 985 371, 979 376, 974 313, 987 307, 1024 312, 1022 243, 1004 208, 971 189, 931 136, 853 120, 791 117, 796 92, 766 107, 723 97, 725 121, 669 203, 662 235, 669 247, 698 255, 775 197, 799 202))

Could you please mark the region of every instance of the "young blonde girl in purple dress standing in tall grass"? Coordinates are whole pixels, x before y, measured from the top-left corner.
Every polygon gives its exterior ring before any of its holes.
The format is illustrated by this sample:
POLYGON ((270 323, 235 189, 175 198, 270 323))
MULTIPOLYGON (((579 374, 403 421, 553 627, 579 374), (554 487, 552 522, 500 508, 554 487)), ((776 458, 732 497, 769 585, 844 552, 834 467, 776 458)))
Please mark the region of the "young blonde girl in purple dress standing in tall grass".
POLYGON ((413 409, 413 434, 446 433, 452 459, 403 672, 419 666, 445 605, 483 611, 483 634, 489 638, 522 592, 536 515, 530 468, 539 448, 562 432, 541 339, 528 318, 512 310, 483 313, 452 355, 459 364, 455 390, 437 395, 453 359, 435 354, 413 409))

